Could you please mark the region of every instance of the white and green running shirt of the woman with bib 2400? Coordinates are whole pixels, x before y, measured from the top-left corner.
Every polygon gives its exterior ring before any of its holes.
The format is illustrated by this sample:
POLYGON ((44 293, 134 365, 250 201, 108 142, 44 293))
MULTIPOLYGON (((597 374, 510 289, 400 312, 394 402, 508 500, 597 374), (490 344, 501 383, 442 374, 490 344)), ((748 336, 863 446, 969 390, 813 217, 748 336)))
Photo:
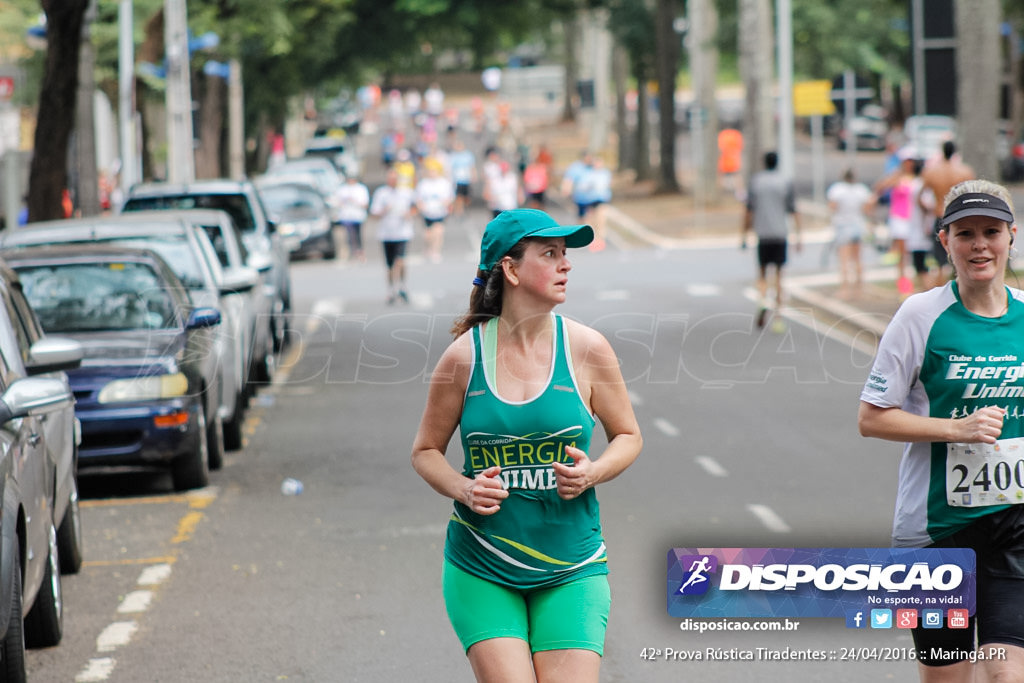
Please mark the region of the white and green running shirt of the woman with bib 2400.
POLYGON ((915 294, 882 336, 861 400, 935 418, 986 405, 1007 411, 993 445, 906 444, 894 546, 927 546, 1024 503, 1024 292, 1007 290, 1010 305, 1000 317, 969 311, 955 282, 915 294))

